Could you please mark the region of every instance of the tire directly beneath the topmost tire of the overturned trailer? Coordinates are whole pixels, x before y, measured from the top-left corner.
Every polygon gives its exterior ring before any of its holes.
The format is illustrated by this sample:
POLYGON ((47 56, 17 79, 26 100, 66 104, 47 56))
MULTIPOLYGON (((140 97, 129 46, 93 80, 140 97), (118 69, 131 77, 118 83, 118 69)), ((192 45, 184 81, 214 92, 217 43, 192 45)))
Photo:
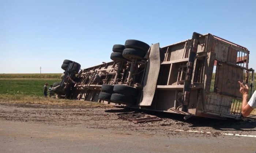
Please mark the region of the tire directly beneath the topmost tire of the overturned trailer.
POLYGON ((125 48, 123 51, 123 57, 129 60, 135 59, 143 59, 145 53, 141 50, 134 49, 134 48, 125 48))

